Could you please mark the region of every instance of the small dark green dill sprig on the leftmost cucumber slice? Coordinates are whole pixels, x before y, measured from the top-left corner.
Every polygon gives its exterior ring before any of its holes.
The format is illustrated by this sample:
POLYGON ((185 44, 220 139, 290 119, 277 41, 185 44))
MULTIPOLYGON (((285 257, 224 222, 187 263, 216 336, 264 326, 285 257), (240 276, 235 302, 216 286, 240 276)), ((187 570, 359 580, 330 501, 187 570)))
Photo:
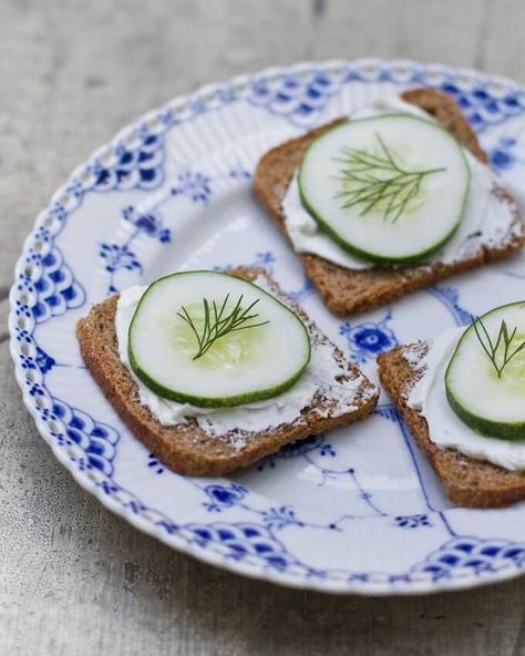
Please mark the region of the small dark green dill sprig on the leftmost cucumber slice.
POLYGON ((248 328, 257 328, 257 326, 265 326, 269 321, 260 321, 259 324, 247 324, 251 319, 256 319, 259 315, 257 312, 250 314, 254 307, 259 303, 259 299, 254 300, 248 307, 243 308, 243 294, 239 296, 237 303, 231 310, 226 310, 229 300, 229 294, 226 295, 220 308, 217 307, 215 300, 209 304, 207 298, 203 298, 203 322, 197 326, 197 322, 192 318, 184 306, 181 306, 181 311, 177 315, 186 321, 192 329, 198 344, 198 350, 194 356, 197 360, 206 353, 214 344, 237 330, 247 330, 248 328))

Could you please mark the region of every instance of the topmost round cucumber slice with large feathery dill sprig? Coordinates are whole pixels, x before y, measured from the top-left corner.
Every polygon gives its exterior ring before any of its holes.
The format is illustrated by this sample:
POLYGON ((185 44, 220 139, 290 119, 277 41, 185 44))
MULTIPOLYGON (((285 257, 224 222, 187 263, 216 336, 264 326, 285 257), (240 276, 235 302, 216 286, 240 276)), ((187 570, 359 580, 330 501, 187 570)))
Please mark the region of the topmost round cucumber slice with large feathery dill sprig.
POLYGON ((446 130, 388 114, 319 136, 298 180, 305 208, 342 248, 383 265, 409 264, 439 250, 456 230, 470 167, 446 130))

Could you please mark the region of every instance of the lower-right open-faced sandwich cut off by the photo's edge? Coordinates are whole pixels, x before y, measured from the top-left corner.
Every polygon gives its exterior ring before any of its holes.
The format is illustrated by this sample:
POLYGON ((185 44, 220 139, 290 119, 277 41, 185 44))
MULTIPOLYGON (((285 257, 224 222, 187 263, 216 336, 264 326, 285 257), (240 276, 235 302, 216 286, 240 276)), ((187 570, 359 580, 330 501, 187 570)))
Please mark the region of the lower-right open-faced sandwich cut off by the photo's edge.
POLYGON ((525 301, 378 357, 381 382, 454 503, 525 499, 525 301))

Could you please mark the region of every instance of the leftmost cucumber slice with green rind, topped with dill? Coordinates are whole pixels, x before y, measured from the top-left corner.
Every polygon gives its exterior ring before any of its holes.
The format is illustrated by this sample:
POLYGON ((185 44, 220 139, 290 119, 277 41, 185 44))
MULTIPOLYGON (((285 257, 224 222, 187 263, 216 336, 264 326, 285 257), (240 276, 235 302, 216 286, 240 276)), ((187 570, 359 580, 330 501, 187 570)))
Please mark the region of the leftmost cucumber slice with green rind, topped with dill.
POLYGON ((290 388, 308 366, 310 338, 289 308, 253 283, 185 271, 146 289, 130 325, 128 355, 159 397, 220 408, 290 388))

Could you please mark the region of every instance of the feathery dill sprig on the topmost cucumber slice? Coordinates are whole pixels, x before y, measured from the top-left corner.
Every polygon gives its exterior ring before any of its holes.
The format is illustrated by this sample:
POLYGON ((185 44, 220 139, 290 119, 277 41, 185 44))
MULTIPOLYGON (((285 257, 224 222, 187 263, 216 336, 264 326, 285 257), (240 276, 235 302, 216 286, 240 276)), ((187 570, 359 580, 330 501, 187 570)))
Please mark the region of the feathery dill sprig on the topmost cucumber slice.
POLYGON ((395 223, 409 203, 420 193, 423 178, 445 168, 408 171, 395 160, 378 133, 375 139, 380 146, 379 154, 364 150, 341 148, 342 156, 336 157, 336 161, 343 164, 338 176, 342 188, 336 194, 336 198, 343 201, 342 208, 362 205, 360 216, 375 208, 383 213, 384 221, 391 219, 395 223))

